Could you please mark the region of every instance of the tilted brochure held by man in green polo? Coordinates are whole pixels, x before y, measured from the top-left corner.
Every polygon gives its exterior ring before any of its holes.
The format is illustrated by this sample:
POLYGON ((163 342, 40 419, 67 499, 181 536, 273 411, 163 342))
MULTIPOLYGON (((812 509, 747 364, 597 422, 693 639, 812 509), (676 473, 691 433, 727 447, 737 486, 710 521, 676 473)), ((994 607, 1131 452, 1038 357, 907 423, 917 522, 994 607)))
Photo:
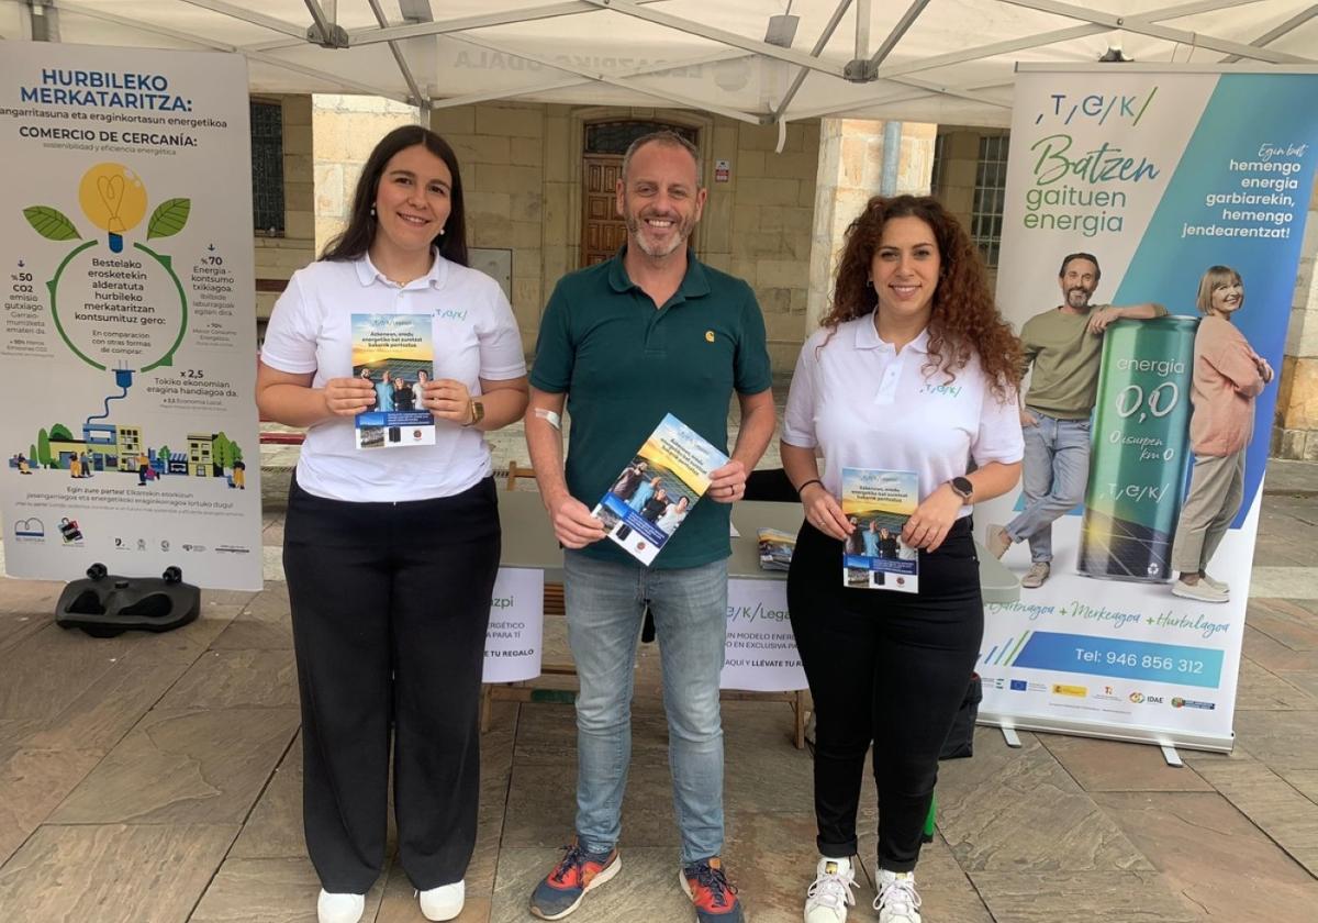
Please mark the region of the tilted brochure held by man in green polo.
POLYGON ((592 513, 610 539, 648 564, 705 496, 709 472, 725 464, 726 455, 667 414, 592 513))

